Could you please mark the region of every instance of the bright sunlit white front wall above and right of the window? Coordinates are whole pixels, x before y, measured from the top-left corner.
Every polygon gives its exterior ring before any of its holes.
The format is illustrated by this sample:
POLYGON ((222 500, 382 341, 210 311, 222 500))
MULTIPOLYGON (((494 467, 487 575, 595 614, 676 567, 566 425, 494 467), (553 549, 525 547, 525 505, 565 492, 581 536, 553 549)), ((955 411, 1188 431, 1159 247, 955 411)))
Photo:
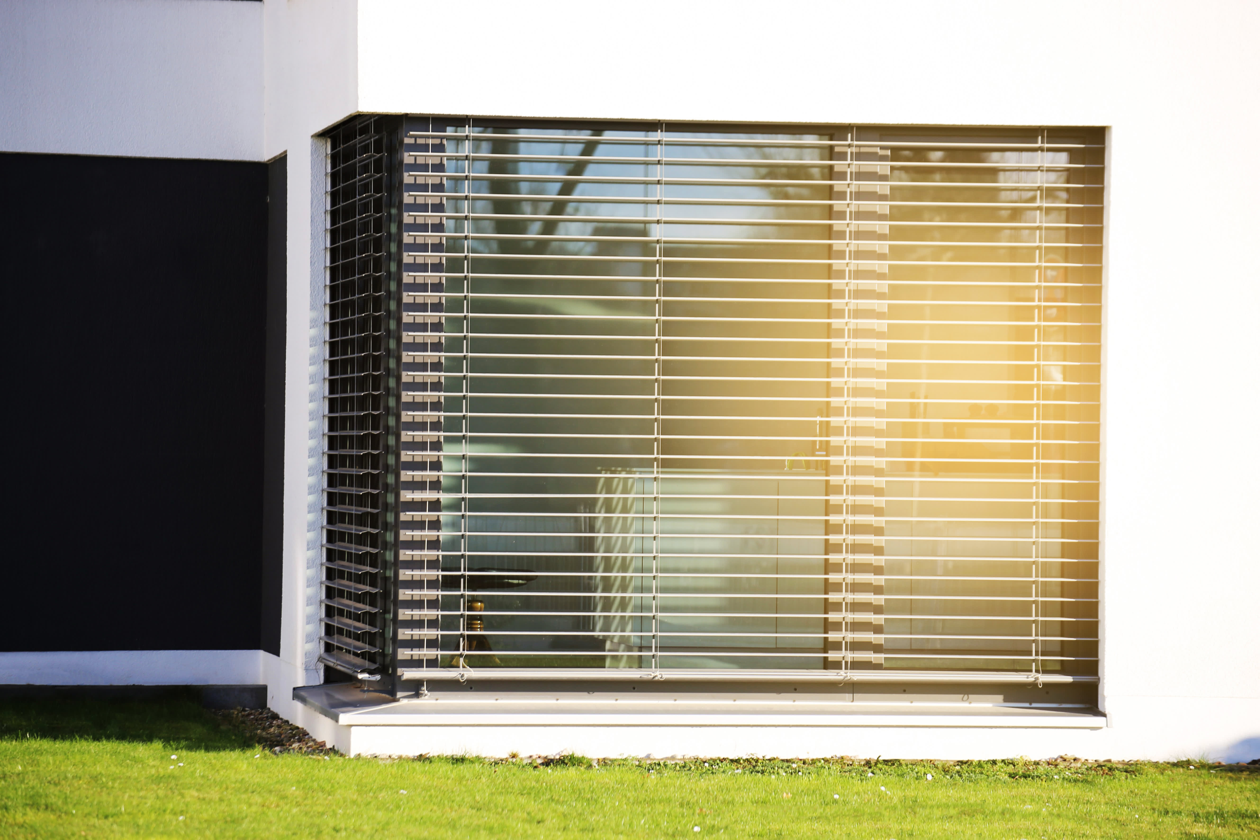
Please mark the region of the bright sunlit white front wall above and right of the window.
POLYGON ((1260 131, 1260 5, 362 0, 358 25, 360 111, 1109 126, 1111 728, 1072 746, 1260 735, 1260 170, 1225 165, 1260 131))

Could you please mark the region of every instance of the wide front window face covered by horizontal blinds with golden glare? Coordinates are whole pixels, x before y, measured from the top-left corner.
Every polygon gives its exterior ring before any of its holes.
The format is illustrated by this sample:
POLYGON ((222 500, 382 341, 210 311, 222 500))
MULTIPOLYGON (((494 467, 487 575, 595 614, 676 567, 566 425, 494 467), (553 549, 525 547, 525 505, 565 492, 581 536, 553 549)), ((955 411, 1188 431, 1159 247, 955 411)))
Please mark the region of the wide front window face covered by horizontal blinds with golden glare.
POLYGON ((404 690, 1096 680, 1100 130, 396 136, 404 690))

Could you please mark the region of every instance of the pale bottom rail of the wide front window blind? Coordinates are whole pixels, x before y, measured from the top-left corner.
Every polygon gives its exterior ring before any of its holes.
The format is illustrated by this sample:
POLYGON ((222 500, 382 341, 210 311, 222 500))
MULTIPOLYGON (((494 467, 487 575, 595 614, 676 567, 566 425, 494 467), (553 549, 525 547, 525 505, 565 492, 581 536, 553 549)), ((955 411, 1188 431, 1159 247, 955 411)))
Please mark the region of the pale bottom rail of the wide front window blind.
POLYGON ((675 683, 987 683, 1005 685, 1036 684, 1091 684, 1097 676, 1075 674, 1031 674, 1028 671, 825 671, 825 670, 730 670, 730 669, 519 669, 519 667, 428 667, 399 669, 401 680, 517 680, 546 681, 614 681, 614 680, 669 680, 675 683))

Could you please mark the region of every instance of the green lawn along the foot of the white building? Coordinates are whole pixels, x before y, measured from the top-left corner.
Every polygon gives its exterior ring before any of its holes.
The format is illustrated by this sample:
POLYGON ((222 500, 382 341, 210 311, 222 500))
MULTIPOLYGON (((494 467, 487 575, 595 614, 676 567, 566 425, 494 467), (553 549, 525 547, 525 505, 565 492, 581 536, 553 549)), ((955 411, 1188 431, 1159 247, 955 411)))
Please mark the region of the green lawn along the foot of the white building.
POLYGON ((0 701, 3 837, 713 835, 1260 837, 1260 768, 277 756, 181 696, 0 701))

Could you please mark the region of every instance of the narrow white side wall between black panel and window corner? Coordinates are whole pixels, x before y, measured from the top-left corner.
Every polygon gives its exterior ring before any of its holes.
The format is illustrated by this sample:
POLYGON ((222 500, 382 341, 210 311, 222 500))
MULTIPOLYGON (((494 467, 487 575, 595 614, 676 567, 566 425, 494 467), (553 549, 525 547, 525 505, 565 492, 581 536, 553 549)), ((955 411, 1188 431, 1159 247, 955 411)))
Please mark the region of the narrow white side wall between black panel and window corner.
POLYGON ((289 311, 285 355, 285 577, 280 657, 267 662, 272 708, 306 719, 292 688, 323 679, 320 632, 324 394, 323 141, 315 135, 357 110, 355 4, 263 4, 265 156, 287 155, 289 311))

